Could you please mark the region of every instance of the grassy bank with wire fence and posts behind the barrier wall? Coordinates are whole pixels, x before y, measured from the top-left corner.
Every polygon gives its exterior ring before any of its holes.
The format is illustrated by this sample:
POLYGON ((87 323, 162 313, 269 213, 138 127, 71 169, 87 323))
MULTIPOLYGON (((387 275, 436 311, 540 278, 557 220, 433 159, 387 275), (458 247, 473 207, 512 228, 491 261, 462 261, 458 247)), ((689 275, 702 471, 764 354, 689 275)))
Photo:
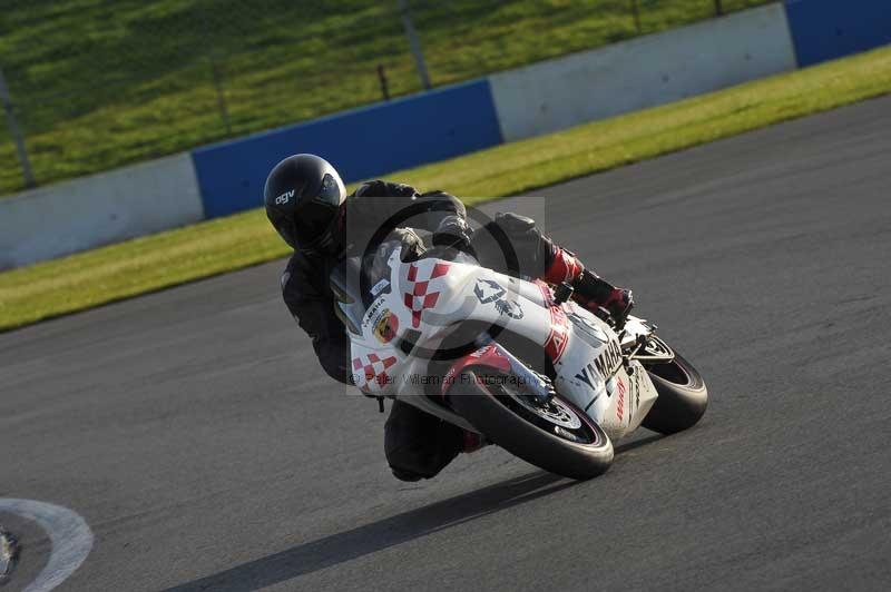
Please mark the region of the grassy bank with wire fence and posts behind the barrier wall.
POLYGON ((0 193, 768 1, 0 0, 0 193))

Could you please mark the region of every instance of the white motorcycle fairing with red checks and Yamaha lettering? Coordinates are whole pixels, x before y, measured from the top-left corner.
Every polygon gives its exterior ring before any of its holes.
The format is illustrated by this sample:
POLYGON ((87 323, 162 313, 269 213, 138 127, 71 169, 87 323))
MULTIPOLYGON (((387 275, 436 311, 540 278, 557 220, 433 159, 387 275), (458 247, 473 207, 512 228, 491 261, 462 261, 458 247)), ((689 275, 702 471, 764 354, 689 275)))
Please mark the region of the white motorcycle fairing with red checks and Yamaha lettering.
MULTIPOLYGON (((361 335, 351 334, 353 377, 366 393, 404 397, 442 415, 425 397, 409 397, 422 393, 429 361, 405 354, 396 344, 412 330, 412 343, 435 349, 458 325, 474 319, 540 344, 554 361, 557 391, 613 440, 634 431, 653 406, 657 394, 652 381, 637 362, 628 365, 634 371, 628 374, 613 328, 574 303, 555 305, 544 284, 471 263, 431 258, 403 264, 399 255, 395 249, 388 259, 389 285, 381 280, 371 290, 378 296, 358 327, 361 335)), ((649 330, 635 323, 629 323, 629 333, 649 330)), ((456 417, 447 418, 467 427, 456 417)))

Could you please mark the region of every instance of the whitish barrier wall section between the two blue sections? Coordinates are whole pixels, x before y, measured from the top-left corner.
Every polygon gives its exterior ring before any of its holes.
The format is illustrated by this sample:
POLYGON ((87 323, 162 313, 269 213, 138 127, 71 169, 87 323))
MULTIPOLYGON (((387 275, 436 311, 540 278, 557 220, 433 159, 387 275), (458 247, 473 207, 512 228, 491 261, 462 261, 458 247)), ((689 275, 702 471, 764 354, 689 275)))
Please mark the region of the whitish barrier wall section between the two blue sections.
POLYGON ((505 141, 793 70, 781 4, 737 12, 491 77, 505 141))

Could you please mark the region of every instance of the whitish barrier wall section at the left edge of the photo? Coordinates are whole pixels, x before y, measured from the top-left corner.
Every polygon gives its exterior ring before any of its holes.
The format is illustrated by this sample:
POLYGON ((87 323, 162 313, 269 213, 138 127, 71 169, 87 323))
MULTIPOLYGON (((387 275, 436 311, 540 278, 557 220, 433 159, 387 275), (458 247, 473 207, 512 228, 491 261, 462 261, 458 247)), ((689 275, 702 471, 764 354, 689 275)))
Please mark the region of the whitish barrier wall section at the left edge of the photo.
POLYGON ((188 154, 48 185, 0 199, 0 269, 203 218, 188 154))

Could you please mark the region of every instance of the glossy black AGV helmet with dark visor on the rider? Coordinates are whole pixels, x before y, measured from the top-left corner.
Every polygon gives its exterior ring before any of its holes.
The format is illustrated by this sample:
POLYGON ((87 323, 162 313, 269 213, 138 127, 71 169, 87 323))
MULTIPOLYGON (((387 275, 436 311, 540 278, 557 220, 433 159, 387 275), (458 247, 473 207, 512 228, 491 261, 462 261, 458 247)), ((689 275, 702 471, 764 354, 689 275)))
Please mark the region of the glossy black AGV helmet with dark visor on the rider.
POLYGON ((270 221, 293 248, 306 253, 336 246, 339 210, 346 189, 327 160, 315 155, 285 158, 266 177, 263 201, 270 221))

